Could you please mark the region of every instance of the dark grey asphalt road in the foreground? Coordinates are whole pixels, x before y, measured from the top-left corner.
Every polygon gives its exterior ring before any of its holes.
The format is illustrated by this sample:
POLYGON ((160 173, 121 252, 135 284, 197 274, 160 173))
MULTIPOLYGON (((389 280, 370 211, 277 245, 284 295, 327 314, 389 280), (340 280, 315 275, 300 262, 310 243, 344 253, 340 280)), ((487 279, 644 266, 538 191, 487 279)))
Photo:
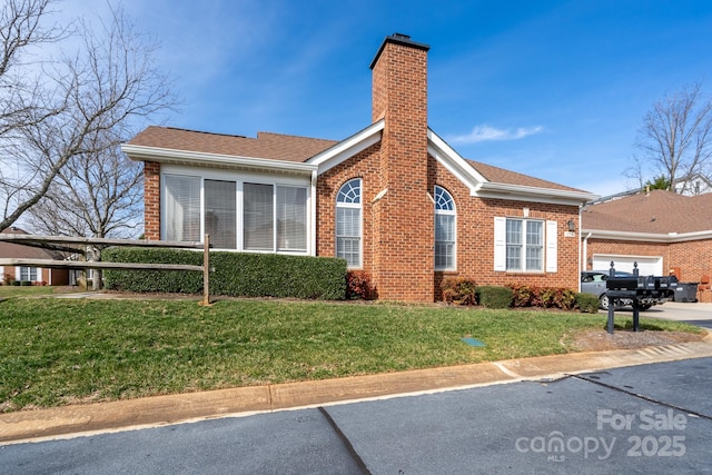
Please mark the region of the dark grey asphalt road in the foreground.
POLYGON ((712 358, 0 446, 11 474, 712 473, 712 358))

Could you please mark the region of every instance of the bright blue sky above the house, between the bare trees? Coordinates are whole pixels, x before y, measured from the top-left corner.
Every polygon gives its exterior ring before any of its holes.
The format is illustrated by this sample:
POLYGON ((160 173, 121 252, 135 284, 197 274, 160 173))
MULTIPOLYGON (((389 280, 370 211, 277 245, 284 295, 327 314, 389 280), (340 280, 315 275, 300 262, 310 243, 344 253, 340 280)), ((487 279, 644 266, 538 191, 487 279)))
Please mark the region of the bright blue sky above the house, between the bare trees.
POLYGON ((635 186, 623 174, 654 101, 695 81, 712 91, 708 0, 123 6, 175 79, 166 125, 346 138, 368 126, 368 66, 400 32, 431 46, 429 126, 461 155, 599 195, 635 186))

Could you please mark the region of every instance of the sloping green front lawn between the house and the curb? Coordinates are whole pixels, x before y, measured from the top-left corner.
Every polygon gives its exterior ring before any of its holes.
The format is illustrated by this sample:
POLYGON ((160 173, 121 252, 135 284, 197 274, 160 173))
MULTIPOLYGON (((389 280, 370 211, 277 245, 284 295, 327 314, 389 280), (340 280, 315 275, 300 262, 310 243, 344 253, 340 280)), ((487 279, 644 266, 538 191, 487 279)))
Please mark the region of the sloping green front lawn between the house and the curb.
MULTIPOLYGON (((573 350, 573 333, 605 321, 385 304, 8 298, 0 412, 562 354, 573 350), (466 336, 486 346, 468 346, 466 336)), ((643 327, 694 330, 661 320, 643 327)))

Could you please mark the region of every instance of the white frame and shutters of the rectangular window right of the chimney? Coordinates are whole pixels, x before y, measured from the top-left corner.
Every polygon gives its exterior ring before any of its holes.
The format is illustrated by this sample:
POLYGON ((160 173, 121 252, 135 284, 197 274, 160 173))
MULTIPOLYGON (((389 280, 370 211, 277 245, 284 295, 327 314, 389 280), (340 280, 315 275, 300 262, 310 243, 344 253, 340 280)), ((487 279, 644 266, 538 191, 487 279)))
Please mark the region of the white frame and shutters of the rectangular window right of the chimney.
POLYGON ((557 237, 557 222, 554 220, 532 219, 532 218, 494 218, 494 270, 507 271, 507 273, 523 273, 523 274, 544 274, 556 273, 558 260, 558 237, 557 237), (507 236, 506 224, 510 220, 522 221, 522 255, 520 256, 520 267, 507 267, 507 236), (526 222, 538 221, 542 222, 542 268, 528 269, 526 268, 526 222))

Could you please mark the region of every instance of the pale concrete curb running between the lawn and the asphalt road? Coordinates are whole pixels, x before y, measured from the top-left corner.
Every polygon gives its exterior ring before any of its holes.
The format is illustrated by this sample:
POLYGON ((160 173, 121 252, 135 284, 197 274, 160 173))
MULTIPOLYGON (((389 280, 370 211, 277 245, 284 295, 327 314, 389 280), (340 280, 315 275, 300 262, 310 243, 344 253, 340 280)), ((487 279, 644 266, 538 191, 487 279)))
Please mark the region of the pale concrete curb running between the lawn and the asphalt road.
POLYGON ((712 357, 711 333, 701 342, 639 349, 574 353, 20 410, 0 414, 0 445, 497 383, 557 378, 568 374, 701 357, 712 357))

